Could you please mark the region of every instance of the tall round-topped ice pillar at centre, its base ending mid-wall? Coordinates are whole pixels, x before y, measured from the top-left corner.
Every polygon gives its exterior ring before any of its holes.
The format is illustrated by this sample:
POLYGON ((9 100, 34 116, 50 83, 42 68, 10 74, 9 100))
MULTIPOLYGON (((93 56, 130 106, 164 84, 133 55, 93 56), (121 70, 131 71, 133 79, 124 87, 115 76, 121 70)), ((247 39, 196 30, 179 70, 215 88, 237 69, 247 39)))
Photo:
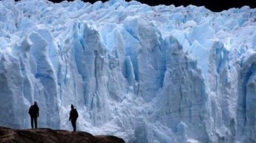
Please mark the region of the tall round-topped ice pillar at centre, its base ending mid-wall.
POLYGON ((127 36, 137 41, 134 47, 127 44, 126 49, 127 55, 132 57, 135 79, 139 82, 138 95, 144 97, 145 101, 151 101, 161 88, 164 78, 165 60, 164 48, 160 46, 161 35, 152 23, 142 17, 126 18, 124 29, 129 34, 127 36))

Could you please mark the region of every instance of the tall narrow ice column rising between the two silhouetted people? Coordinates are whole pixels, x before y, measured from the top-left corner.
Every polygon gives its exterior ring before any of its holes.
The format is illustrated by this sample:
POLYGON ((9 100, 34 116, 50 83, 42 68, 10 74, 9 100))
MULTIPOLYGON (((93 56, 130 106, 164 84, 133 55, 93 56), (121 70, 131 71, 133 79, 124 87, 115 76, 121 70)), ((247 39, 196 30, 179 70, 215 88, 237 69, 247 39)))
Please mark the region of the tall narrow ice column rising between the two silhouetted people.
MULTIPOLYGON (((28 37, 31 42, 31 55, 36 62, 36 79, 40 80, 44 90, 43 95, 46 103, 47 124, 53 128, 60 127, 60 115, 58 111, 58 86, 55 70, 50 62, 47 42, 39 33, 31 33, 28 37)), ((36 95, 37 96, 37 95, 36 95)))

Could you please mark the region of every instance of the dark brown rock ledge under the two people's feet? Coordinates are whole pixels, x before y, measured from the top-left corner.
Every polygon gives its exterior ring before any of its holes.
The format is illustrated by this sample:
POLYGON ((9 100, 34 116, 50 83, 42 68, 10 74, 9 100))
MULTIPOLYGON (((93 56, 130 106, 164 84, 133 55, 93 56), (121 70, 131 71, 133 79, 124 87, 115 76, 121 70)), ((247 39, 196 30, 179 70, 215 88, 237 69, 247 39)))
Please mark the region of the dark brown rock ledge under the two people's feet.
POLYGON ((67 130, 50 130, 39 128, 34 130, 15 130, 0 127, 1 143, 57 143, 57 142, 82 142, 82 143, 124 143, 124 139, 114 136, 93 136, 87 132, 69 132, 67 130))

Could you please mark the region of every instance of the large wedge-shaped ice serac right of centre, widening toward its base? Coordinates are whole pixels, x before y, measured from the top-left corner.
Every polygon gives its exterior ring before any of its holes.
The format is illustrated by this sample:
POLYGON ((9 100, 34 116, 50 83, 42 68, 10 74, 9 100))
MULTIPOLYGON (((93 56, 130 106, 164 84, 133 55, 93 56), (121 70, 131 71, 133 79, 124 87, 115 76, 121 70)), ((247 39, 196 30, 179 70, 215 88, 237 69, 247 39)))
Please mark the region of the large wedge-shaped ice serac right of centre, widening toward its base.
POLYGON ((158 103, 159 120, 177 128, 174 132, 178 132, 178 126, 185 125, 187 129, 183 130, 188 137, 207 141, 208 95, 201 70, 175 38, 166 38, 162 47, 166 47, 166 71, 163 94, 158 103))

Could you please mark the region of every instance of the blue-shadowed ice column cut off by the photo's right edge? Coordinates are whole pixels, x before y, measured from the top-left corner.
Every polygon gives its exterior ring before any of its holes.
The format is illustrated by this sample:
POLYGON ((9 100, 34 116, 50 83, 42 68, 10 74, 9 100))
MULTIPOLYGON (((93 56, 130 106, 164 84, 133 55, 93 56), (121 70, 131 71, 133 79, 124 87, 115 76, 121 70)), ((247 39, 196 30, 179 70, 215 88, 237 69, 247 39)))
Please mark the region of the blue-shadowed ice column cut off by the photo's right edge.
POLYGON ((239 76, 238 90, 238 137, 255 142, 255 51, 248 51, 244 57, 239 76))

